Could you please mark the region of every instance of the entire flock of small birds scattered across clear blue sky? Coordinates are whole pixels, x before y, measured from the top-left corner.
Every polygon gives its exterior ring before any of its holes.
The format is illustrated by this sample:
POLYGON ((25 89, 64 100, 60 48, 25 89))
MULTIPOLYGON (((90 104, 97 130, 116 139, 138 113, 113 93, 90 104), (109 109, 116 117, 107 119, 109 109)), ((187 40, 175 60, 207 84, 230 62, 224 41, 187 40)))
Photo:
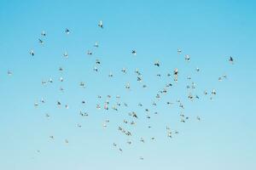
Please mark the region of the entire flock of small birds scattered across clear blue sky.
MULTIPOLYGON (((104 28, 104 26, 103 26, 103 24, 102 24, 102 20, 99 21, 98 27, 99 27, 99 29, 103 29, 103 28, 104 28)), ((69 35, 69 34, 71 34, 71 31, 70 31, 69 29, 66 29, 64 33, 67 34, 67 35, 69 35)), ((42 31, 42 32, 41 32, 41 37, 38 38, 38 43, 44 44, 44 37, 47 37, 47 34, 46 34, 45 31, 42 31)), ((94 48, 100 48, 98 42, 95 42, 95 44, 93 45, 93 47, 94 47, 94 48)), ((128 52, 128 53, 129 53, 129 52, 128 52)), ((137 55, 137 50, 136 50, 136 49, 132 49, 130 53, 131 53, 131 55, 136 56, 136 55, 137 55)), ((29 54, 30 54, 32 57, 35 57, 35 56, 37 55, 37 53, 36 53, 33 49, 30 50, 29 54)), ((90 50, 87 51, 87 54, 88 54, 88 55, 93 55, 92 51, 90 51, 90 50)), ((178 49, 177 49, 177 54, 180 54, 180 56, 182 56, 183 50, 180 49, 180 48, 178 48, 178 49)), ((67 54, 67 52, 65 52, 65 53, 63 54, 63 57, 64 57, 65 59, 68 59, 68 54, 67 54)), ((189 61, 190 61, 190 56, 189 56, 188 54, 184 55, 184 62, 189 62, 189 61)), ((234 64, 234 59, 233 59, 233 57, 229 57, 229 59, 227 59, 227 61, 229 61, 230 64, 234 64)), ((93 71, 98 72, 98 67, 99 67, 100 65, 102 65, 101 60, 100 60, 100 59, 96 59, 95 66, 93 67, 93 71)), ((160 65, 160 61, 156 60, 156 61, 153 63, 153 66, 155 66, 155 67, 160 67, 160 66, 161 66, 161 65, 160 65)), ((58 67, 58 70, 62 72, 62 71, 64 71, 64 68, 62 68, 62 67, 60 66, 60 67, 58 67)), ((126 74, 126 73, 128 72, 127 68, 125 68, 125 67, 122 68, 122 69, 120 69, 120 71, 121 71, 122 74, 126 74)), ((197 68, 195 68, 195 71, 199 72, 199 71, 201 71, 201 70, 200 70, 200 68, 197 67, 197 68)), ((12 74, 13 74, 12 71, 8 71, 8 75, 9 75, 9 76, 11 76, 12 74)), ((139 69, 136 69, 135 75, 136 75, 136 78, 137 78, 137 82, 143 82, 143 73, 142 73, 141 71, 139 71, 139 69)), ((156 76, 157 76, 157 77, 161 77, 160 74, 157 74, 156 76)), ((110 72, 110 73, 108 74, 108 77, 113 77, 113 73, 110 72)), ((172 82, 167 82, 165 87, 161 88, 160 91, 156 92, 154 99, 148 99, 148 100, 150 100, 150 101, 151 101, 151 100, 154 101, 154 102, 152 103, 152 105, 154 105, 154 106, 157 106, 158 103, 160 103, 160 98, 161 98, 161 96, 164 95, 164 94, 167 94, 168 91, 169 91, 169 89, 172 88, 173 84, 176 83, 179 78, 183 78, 183 77, 179 77, 179 70, 178 70, 177 68, 175 68, 172 73, 168 73, 168 74, 167 74, 167 77, 170 77, 171 79, 169 79, 169 80, 172 80, 172 82)), ((192 80, 191 77, 185 77, 185 78, 186 78, 187 80, 189 80, 189 81, 192 80)), ((226 78, 227 78, 226 75, 222 75, 221 77, 218 77, 218 81, 223 81, 223 80, 226 79, 226 78)), ((63 81, 64 81, 64 78, 63 78, 63 77, 60 77, 60 78, 59 78, 59 81, 60 81, 60 82, 63 82, 63 81)), ((53 80, 52 78, 49 78, 49 80, 43 80, 41 83, 42 83, 43 86, 47 86, 48 84, 54 83, 54 80, 53 80)), ((85 87, 85 82, 79 82, 79 87, 80 87, 80 88, 86 88, 86 87, 85 87)), ((78 88, 79 88, 79 87, 78 87, 78 88)), ((143 84, 142 88, 148 88, 148 85, 147 85, 147 84, 143 84)), ((195 82, 191 82, 191 81, 190 81, 190 84, 188 84, 185 88, 188 88, 188 89, 189 89, 189 94, 188 94, 187 97, 186 97, 187 99, 189 99, 189 100, 200 99, 200 95, 193 95, 193 93, 191 93, 191 92, 193 92, 193 89, 196 88, 195 82)), ((129 83, 129 82, 126 82, 125 85, 124 85, 124 90, 128 90, 128 91, 129 91, 130 89, 131 89, 130 83, 129 83)), ((93 89, 91 89, 91 90, 93 90, 93 89)), ((63 89, 63 88, 60 88, 60 91, 63 92, 64 89, 63 89)), ((201 92, 201 94, 202 94, 202 95, 209 95, 209 96, 210 96, 209 98, 212 99, 212 98, 217 94, 217 92, 216 92, 216 89, 213 88, 210 92, 208 92, 207 90, 205 90, 205 91, 201 92)), ((112 95, 108 95, 108 96, 104 97, 104 96, 102 96, 102 95, 97 94, 97 95, 96 95, 96 98, 99 99, 99 101, 100 101, 98 104, 96 104, 96 110, 103 110, 103 111, 109 111, 109 110, 120 111, 120 110, 121 110, 121 107, 124 106, 124 107, 127 107, 127 108, 128 108, 128 107, 130 106, 130 105, 128 105, 128 103, 126 103, 125 101, 121 101, 122 98, 121 98, 120 95, 117 95, 117 96, 115 96, 115 97, 113 97, 112 95), (100 100, 100 99, 102 99, 102 98, 105 98, 106 100, 102 102, 102 100, 100 100), (114 101, 114 102, 111 103, 110 100, 113 99, 113 98, 116 98, 116 101, 114 101)), ((83 105, 85 105, 85 104, 87 103, 85 100, 82 100, 82 101, 80 101, 80 102, 81 102, 83 105)), ((46 102, 45 102, 45 99, 42 98, 40 101, 35 102, 35 103, 34 103, 34 106, 35 106, 36 108, 38 108, 39 105, 45 104, 45 103, 46 103, 46 102)), ((181 123, 187 122, 190 117, 189 117, 189 116, 186 116, 186 115, 183 113, 183 111, 184 111, 184 104, 183 104, 182 100, 181 100, 181 99, 177 99, 176 102, 170 102, 170 101, 167 101, 167 102, 166 102, 166 105, 173 105, 173 104, 177 104, 177 107, 180 109, 180 112, 178 112, 178 114, 179 114, 179 116, 178 116, 179 122, 181 122, 181 123)), ((62 104, 61 101, 56 101, 55 105, 56 105, 57 107, 61 107, 63 104, 62 104)), ((63 107, 66 108, 66 109, 68 109, 68 108, 69 108, 69 105, 65 104, 65 105, 63 105, 63 107)), ((152 117, 152 116, 150 115, 151 112, 149 111, 148 107, 145 107, 145 106, 143 105, 143 101, 142 101, 142 102, 139 102, 139 103, 137 104, 137 107, 143 108, 143 110, 144 110, 145 113, 146 113, 146 116, 145 116, 146 119, 149 120, 149 119, 152 117)), ((130 110, 131 110, 130 112, 128 112, 127 114, 125 114, 125 119, 124 119, 122 122, 119 122, 119 125, 117 125, 117 128, 116 128, 117 132, 122 133, 122 134, 125 136, 125 138, 128 138, 128 140, 127 140, 127 142, 126 142, 127 144, 133 144, 133 142, 131 142, 131 139, 132 139, 132 138, 135 138, 135 136, 136 136, 136 135, 134 134, 134 132, 132 132, 132 131, 130 130, 131 127, 132 127, 132 128, 133 128, 133 127, 136 127, 136 126, 137 126, 137 120, 143 118, 143 116, 142 116, 141 114, 138 114, 138 112, 135 111, 134 108, 130 108, 130 110)), ((88 113, 87 111, 78 111, 78 113, 79 113, 79 116, 82 116, 82 117, 84 117, 84 116, 89 116, 89 113, 88 113)), ((158 114, 158 111, 154 111, 153 114, 154 114, 154 115, 157 115, 157 114, 158 114)), ((46 116, 47 118, 50 117, 49 114, 45 114, 45 116, 46 116)), ((200 121, 201 121, 201 117, 200 117, 200 116, 195 116, 195 120, 197 120, 198 122, 200 122, 200 121)), ((108 123, 109 123, 109 122, 110 122, 110 120, 108 120, 108 119, 107 119, 106 121, 104 121, 104 122, 102 123, 102 127, 103 127, 103 128, 108 127, 108 123)), ((78 123, 76 126, 77 126, 77 127, 82 127, 82 125, 79 124, 79 123, 78 123)), ((150 128, 152 128, 152 127, 149 125, 149 126, 147 126, 147 128, 150 129, 150 128)), ((173 131, 171 127, 166 126, 166 137, 167 137, 167 138, 172 138, 173 135, 176 135, 176 134, 178 134, 178 133, 179 133, 178 131, 173 131)), ((54 140, 54 139, 55 139, 55 136, 52 135, 52 134, 49 134, 49 139, 54 140)), ((139 139, 137 139, 137 142, 145 143, 145 140, 146 140, 146 139, 144 139, 143 137, 140 137, 139 139)), ((149 140, 155 140, 155 137, 152 136, 149 140)), ((68 140, 68 139, 63 139, 63 141, 64 141, 66 144, 69 143, 69 140, 68 140)), ((120 146, 120 144, 117 144, 115 141, 113 141, 113 144, 112 144, 112 145, 113 145, 112 147, 113 147, 113 148, 116 148, 117 150, 119 150, 119 152, 123 152, 123 151, 124 151, 124 150, 122 149, 122 147, 120 146)), ((40 150, 38 150, 38 152, 40 152, 40 150)), ((143 156, 139 156, 139 159, 140 159, 140 160, 143 160, 144 157, 143 157, 143 156)))

